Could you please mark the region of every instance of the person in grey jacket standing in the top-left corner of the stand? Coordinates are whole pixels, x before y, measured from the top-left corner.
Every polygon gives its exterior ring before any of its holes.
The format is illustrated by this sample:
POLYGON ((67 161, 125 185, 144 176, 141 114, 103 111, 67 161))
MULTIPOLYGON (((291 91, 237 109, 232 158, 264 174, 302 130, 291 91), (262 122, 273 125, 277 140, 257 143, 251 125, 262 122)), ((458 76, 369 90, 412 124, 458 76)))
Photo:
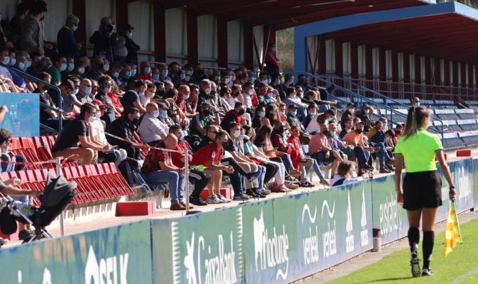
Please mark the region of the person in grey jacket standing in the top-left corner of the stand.
POLYGON ((30 14, 21 21, 21 50, 28 53, 39 53, 44 55, 44 21, 48 11, 46 3, 42 0, 33 2, 30 14))

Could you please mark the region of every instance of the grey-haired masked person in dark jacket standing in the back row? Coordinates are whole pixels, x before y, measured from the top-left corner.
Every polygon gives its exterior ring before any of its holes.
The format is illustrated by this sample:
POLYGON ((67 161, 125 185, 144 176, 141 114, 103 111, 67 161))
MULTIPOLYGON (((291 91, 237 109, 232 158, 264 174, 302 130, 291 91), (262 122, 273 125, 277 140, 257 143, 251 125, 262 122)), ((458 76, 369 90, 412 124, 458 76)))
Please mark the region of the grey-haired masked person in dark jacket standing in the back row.
POLYGON ((60 53, 62 57, 80 58, 82 43, 78 44, 73 35, 73 32, 78 30, 79 23, 80 19, 78 19, 78 17, 69 15, 65 25, 58 30, 56 42, 58 44, 58 53, 60 53))

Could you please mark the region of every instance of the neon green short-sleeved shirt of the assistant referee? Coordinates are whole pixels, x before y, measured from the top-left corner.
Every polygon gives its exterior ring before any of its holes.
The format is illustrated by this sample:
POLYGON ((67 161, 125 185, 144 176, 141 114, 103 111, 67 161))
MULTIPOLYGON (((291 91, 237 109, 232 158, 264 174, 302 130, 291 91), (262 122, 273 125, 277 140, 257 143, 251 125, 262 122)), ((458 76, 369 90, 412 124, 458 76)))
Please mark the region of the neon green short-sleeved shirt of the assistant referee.
POLYGON ((435 152, 443 150, 439 137, 419 129, 416 135, 404 138, 398 138, 394 153, 403 155, 407 173, 436 171, 435 152))

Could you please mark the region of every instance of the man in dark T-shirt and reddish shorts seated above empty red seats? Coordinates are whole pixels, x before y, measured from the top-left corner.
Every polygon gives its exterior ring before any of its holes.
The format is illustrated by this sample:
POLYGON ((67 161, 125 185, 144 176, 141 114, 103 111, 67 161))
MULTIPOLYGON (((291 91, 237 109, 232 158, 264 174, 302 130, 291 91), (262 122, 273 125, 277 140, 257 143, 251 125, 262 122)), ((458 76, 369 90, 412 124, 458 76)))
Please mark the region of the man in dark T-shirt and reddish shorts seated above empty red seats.
POLYGON ((51 152, 53 157, 71 157, 82 164, 96 164, 98 151, 109 151, 109 145, 100 147, 89 140, 89 126, 87 122, 93 121, 96 116, 94 104, 82 104, 80 115, 65 125, 57 137, 51 152), (80 144, 80 147, 78 146, 80 144))

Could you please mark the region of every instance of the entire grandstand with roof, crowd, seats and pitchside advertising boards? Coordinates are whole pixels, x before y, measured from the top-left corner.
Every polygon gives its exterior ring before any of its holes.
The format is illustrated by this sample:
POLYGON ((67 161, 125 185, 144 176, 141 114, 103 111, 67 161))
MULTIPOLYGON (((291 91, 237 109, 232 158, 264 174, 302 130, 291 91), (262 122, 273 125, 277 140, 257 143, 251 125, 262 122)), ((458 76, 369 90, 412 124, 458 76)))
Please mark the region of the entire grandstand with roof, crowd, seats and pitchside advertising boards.
POLYGON ((411 106, 478 206, 470 6, 3 0, 0 24, 5 283, 290 283, 380 249, 411 106))

